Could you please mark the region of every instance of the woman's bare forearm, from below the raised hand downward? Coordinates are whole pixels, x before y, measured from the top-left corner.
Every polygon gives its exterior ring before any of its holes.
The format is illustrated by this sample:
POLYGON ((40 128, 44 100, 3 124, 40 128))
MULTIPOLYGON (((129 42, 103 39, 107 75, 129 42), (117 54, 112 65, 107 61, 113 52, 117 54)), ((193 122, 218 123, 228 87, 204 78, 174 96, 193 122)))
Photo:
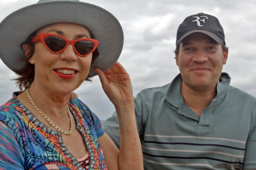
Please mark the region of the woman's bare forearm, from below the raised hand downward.
POLYGON ((122 103, 115 107, 120 129, 119 169, 143 169, 143 156, 137 130, 134 103, 122 103))

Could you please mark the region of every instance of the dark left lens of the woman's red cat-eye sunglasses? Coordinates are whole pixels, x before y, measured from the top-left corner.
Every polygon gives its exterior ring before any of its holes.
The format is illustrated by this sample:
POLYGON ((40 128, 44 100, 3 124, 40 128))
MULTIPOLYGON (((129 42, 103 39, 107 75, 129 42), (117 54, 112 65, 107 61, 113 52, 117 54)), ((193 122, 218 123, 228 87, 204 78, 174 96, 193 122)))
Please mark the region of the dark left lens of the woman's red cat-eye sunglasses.
POLYGON ((56 36, 48 36, 45 37, 45 44, 52 51, 57 52, 61 51, 66 46, 66 41, 56 36))

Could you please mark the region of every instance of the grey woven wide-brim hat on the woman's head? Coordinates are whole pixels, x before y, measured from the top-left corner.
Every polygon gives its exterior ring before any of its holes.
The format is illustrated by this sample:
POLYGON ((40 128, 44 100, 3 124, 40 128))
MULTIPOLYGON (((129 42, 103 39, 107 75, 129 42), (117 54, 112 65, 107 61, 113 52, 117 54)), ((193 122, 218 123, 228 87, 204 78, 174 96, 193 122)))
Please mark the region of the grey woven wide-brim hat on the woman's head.
POLYGON ((0 23, 0 58, 15 72, 24 67, 25 54, 20 44, 39 28, 59 22, 87 27, 99 41, 99 56, 90 68, 89 76, 97 75, 94 68, 104 72, 117 61, 123 48, 123 30, 110 12, 79 0, 39 0, 21 8, 0 23))

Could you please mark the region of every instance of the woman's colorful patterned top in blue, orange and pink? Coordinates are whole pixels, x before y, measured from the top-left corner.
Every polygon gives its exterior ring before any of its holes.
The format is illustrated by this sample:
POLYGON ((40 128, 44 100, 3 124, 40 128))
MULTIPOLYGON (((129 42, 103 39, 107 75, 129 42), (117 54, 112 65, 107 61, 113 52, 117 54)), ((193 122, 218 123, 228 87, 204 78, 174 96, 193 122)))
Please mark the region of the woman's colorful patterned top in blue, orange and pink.
POLYGON ((86 141, 87 160, 77 160, 66 148, 61 133, 40 122, 14 97, 0 106, 0 170, 106 170, 98 137, 104 134, 99 118, 79 99, 69 101, 76 128, 86 141))

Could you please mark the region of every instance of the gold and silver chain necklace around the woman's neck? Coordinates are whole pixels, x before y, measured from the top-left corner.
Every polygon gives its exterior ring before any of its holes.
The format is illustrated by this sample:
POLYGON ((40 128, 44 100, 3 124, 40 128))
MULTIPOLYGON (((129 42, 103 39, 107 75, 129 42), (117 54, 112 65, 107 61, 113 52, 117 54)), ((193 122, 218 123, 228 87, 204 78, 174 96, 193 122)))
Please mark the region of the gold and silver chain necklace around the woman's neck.
POLYGON ((46 114, 44 114, 44 113, 39 109, 39 107, 37 106, 37 104, 34 102, 34 100, 33 100, 32 96, 31 96, 31 94, 29 93, 29 88, 26 89, 26 93, 27 93, 27 96, 28 96, 30 102, 31 102, 32 105, 34 106, 34 108, 47 120, 47 122, 48 122, 50 125, 52 125, 55 129, 57 129, 59 132, 65 134, 65 135, 70 135, 70 134, 71 134, 72 129, 73 129, 73 123, 72 123, 72 118, 71 118, 71 116, 70 116, 70 114, 69 114, 69 107, 68 107, 68 106, 67 106, 67 114, 68 114, 69 120, 70 120, 70 129, 69 129, 69 131, 65 131, 65 130, 59 128, 56 124, 54 124, 54 123, 48 118, 48 116, 46 116, 46 114))

